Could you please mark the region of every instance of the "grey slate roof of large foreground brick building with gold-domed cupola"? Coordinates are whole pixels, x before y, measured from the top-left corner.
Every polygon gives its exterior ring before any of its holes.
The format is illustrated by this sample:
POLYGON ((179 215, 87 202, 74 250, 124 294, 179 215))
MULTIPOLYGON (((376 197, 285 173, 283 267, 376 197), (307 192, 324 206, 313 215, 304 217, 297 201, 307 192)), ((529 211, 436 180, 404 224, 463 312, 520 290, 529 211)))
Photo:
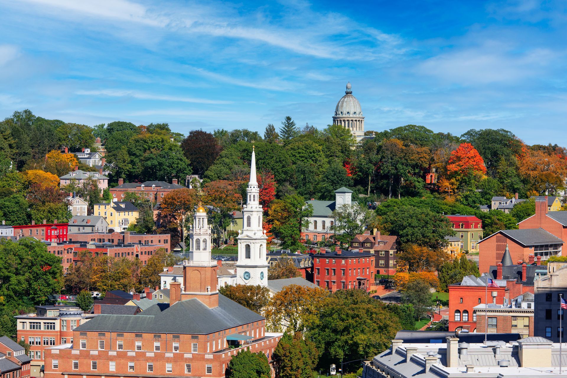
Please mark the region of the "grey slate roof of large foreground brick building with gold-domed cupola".
POLYGON ((75 330, 210 334, 219 330, 264 320, 264 317, 218 295, 218 307, 209 308, 198 299, 182 300, 172 306, 156 304, 138 315, 98 315, 75 330))

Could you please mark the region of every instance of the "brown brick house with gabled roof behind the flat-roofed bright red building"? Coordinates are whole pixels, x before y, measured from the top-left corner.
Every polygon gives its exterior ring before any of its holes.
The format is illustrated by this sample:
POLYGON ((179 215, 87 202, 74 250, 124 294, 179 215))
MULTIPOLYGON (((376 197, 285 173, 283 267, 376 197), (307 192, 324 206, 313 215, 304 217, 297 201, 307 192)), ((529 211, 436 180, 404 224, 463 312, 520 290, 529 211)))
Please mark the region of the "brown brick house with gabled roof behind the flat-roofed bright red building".
POLYGON ((375 256, 371 277, 374 278, 374 274, 396 274, 397 252, 400 249, 400 239, 397 236, 380 235, 377 230, 374 230, 374 235, 370 235, 370 231, 366 231, 350 241, 350 250, 358 252, 361 248, 365 253, 375 256))

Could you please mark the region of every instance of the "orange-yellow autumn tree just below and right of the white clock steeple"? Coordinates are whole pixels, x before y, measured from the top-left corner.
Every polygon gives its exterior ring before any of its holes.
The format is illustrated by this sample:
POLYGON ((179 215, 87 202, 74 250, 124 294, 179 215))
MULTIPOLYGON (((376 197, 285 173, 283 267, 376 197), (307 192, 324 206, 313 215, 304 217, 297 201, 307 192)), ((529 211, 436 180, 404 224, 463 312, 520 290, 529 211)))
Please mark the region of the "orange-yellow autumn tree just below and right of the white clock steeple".
POLYGON ((304 332, 317 321, 319 311, 328 300, 328 292, 320 287, 288 285, 269 301, 265 311, 268 329, 279 332, 304 332))

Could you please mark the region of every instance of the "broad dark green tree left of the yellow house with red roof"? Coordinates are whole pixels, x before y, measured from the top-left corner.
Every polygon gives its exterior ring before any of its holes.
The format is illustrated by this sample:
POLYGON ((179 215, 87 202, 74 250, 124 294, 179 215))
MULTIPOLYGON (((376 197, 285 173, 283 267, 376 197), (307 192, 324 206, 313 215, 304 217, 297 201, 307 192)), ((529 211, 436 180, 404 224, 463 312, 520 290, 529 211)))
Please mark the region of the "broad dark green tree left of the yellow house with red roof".
POLYGON ((380 224, 390 235, 400 237, 402 244, 416 244, 438 249, 445 243, 445 236, 452 235, 451 222, 446 216, 427 208, 399 206, 391 211, 380 209, 380 224))

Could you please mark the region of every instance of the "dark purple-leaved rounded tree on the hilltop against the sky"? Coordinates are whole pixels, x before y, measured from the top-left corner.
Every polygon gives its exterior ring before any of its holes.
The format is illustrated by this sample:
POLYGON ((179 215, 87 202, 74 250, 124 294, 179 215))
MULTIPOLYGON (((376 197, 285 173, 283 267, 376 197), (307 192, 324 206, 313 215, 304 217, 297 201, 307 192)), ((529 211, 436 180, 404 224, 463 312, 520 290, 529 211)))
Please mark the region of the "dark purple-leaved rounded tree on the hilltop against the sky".
POLYGON ((221 154, 222 147, 213 134, 203 130, 192 130, 181 142, 185 157, 193 173, 202 176, 221 154))

